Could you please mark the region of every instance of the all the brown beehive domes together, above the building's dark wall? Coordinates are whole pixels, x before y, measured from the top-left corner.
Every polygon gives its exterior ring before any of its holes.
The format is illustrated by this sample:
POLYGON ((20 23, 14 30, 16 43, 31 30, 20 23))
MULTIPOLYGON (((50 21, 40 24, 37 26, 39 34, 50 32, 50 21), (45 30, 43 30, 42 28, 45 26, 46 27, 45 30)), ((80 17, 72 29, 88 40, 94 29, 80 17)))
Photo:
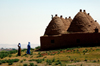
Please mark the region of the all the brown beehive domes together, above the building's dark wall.
POLYGON ((80 9, 80 11, 75 15, 72 20, 71 16, 69 18, 61 15, 60 17, 55 15, 47 26, 44 35, 59 35, 66 32, 95 32, 95 28, 100 32, 100 25, 96 20, 94 20, 90 13, 86 13, 86 10, 80 9))

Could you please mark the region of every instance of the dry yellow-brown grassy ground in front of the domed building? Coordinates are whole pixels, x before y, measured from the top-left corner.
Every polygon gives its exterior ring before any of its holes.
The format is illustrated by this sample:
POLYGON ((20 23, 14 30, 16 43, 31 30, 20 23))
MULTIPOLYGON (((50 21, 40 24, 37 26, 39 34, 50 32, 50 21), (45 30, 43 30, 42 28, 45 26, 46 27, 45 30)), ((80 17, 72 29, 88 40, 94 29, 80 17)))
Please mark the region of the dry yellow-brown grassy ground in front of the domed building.
POLYGON ((5 59, 19 59, 19 62, 14 62, 13 65, 8 65, 8 63, 3 63, 0 66, 23 66, 23 64, 34 63, 34 65, 38 66, 61 66, 61 64, 55 65, 57 60, 60 60, 62 66, 68 65, 76 65, 76 66, 100 66, 100 47, 83 47, 83 48, 73 48, 73 49, 60 49, 60 50, 50 50, 50 51, 33 51, 32 55, 27 55, 26 51, 22 52, 21 56, 17 56, 16 54, 12 54, 11 57, 5 57, 0 60, 5 59), (84 50, 87 50, 85 54, 84 50), (53 54, 54 53, 54 54, 53 54), (43 56, 40 56, 42 55, 43 56), (41 63, 37 63, 36 61, 29 61, 31 59, 43 59, 41 63), (53 60, 52 65, 49 65, 46 60, 53 60), (23 61, 22 63, 20 61, 23 61))

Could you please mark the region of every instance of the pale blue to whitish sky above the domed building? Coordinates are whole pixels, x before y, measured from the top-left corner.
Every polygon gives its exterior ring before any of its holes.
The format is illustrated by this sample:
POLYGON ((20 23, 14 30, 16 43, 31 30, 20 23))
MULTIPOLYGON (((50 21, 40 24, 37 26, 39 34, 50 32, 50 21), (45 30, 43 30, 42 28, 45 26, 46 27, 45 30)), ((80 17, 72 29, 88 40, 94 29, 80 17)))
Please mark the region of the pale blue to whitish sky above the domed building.
POLYGON ((0 0, 0 47, 16 47, 19 42, 40 45, 51 14, 74 18, 85 9, 100 23, 99 7, 100 0, 0 0))

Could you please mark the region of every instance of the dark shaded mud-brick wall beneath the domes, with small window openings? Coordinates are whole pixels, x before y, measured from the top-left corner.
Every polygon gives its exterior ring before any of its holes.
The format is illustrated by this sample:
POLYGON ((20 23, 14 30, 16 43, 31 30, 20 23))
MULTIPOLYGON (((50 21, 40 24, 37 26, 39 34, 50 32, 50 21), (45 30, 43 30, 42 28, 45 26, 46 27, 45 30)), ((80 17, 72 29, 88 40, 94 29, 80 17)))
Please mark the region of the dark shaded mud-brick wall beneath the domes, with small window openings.
POLYGON ((62 34, 61 36, 40 37, 41 50, 74 46, 100 45, 100 33, 62 34))

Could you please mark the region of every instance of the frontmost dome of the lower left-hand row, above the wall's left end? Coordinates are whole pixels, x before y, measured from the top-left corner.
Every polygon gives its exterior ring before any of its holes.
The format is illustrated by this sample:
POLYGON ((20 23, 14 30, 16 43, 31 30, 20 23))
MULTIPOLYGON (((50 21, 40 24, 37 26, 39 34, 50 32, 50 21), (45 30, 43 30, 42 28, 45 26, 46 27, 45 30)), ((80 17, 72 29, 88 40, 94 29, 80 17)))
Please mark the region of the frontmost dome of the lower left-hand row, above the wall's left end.
POLYGON ((46 28, 45 35, 58 35, 65 31, 64 23, 57 17, 57 15, 51 20, 46 28))

